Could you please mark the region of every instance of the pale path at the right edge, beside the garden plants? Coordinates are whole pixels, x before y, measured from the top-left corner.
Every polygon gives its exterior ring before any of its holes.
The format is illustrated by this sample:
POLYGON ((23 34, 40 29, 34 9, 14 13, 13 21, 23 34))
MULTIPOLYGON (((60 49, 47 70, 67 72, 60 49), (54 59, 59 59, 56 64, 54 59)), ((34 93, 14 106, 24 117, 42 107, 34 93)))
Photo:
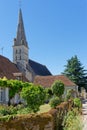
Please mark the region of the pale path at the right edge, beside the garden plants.
POLYGON ((87 99, 83 100, 83 108, 82 108, 82 112, 83 112, 83 130, 87 130, 87 99))

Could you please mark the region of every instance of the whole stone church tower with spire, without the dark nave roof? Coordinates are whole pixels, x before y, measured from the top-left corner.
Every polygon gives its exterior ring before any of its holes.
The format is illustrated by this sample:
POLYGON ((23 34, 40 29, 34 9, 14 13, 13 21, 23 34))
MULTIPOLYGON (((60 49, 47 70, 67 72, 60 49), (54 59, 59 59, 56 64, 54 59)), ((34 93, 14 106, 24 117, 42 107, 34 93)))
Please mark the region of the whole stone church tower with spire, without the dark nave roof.
POLYGON ((13 62, 17 65, 19 70, 24 73, 26 78, 32 81, 32 73, 29 71, 29 57, 28 57, 28 43, 24 30, 24 23, 22 18, 22 11, 19 10, 19 20, 17 27, 17 36, 14 38, 13 45, 13 62))

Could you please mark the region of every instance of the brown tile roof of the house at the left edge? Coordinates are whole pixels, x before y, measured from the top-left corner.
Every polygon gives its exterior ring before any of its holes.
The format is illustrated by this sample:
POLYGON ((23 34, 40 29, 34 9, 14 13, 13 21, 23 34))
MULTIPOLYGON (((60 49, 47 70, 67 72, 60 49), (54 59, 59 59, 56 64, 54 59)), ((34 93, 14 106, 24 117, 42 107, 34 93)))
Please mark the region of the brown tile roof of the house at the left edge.
MULTIPOLYGON (((0 78, 5 76, 7 79, 16 79, 13 73, 20 73, 17 66, 8 58, 0 55, 0 78)), ((27 81, 24 76, 23 79, 24 81, 27 81)))

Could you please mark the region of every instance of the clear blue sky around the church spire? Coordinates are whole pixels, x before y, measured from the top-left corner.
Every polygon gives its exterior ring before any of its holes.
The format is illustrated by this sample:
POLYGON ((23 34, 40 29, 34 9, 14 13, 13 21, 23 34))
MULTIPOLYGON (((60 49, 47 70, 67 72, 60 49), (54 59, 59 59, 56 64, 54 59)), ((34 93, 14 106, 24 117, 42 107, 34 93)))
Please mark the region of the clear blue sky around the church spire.
POLYGON ((58 75, 77 55, 87 69, 87 0, 19 1, 0 0, 0 55, 13 60, 21 7, 30 59, 58 75))

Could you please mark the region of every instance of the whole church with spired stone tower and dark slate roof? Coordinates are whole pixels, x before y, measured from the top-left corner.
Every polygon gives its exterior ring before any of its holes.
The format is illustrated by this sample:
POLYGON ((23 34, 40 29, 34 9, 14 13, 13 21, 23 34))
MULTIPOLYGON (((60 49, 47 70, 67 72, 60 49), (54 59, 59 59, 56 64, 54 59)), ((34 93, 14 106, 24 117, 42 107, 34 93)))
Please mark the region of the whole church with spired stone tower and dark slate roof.
POLYGON ((31 82, 33 82, 36 75, 52 75, 46 66, 29 58, 29 46, 26 40, 21 9, 19 10, 17 36, 14 38, 13 63, 17 65, 20 72, 31 82))

